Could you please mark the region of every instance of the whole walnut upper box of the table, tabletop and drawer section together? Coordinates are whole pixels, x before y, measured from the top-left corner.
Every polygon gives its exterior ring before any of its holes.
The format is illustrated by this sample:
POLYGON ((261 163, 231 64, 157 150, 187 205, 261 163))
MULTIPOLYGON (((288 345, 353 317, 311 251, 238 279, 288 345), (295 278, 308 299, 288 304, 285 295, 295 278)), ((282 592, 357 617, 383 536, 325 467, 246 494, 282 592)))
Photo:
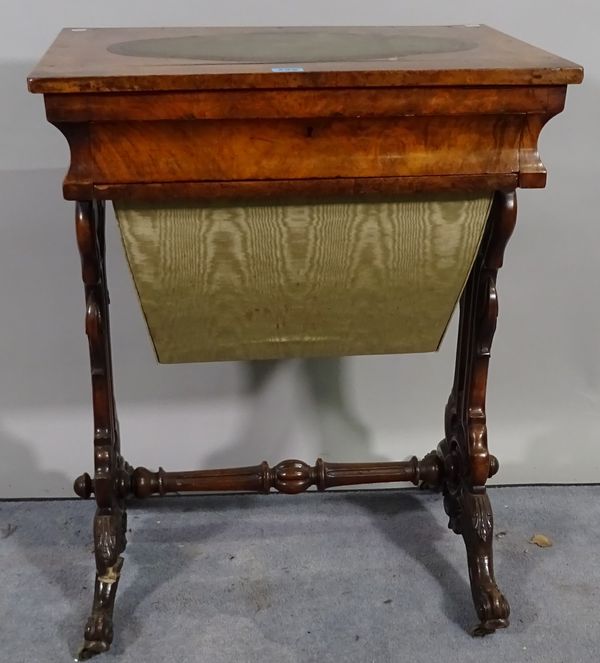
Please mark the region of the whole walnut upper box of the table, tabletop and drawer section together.
POLYGON ((480 25, 68 28, 29 88, 67 199, 244 204, 543 187, 539 133, 582 77, 480 25))

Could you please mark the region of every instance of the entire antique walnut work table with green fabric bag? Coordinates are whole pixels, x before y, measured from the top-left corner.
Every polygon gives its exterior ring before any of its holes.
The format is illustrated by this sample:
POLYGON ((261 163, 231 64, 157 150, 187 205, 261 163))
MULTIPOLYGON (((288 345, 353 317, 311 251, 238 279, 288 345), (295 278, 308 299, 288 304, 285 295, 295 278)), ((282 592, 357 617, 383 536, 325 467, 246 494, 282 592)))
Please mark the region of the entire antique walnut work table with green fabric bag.
POLYGON ((65 29, 29 78, 65 135, 86 297, 96 585, 81 658, 109 649, 126 500, 441 489, 479 624, 508 626, 492 563, 485 393, 517 187, 581 67, 485 26, 65 29), (434 351, 460 301, 445 438, 423 460, 132 469, 106 285, 113 201, 159 361, 434 351))

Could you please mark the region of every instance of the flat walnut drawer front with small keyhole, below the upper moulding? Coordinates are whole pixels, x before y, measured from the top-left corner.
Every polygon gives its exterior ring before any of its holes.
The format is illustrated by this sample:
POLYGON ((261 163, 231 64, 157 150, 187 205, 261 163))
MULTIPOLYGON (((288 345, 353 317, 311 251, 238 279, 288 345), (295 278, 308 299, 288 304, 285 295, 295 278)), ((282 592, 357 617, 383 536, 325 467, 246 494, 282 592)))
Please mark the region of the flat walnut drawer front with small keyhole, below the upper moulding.
POLYGON ((93 122, 103 183, 515 173, 514 115, 93 122))

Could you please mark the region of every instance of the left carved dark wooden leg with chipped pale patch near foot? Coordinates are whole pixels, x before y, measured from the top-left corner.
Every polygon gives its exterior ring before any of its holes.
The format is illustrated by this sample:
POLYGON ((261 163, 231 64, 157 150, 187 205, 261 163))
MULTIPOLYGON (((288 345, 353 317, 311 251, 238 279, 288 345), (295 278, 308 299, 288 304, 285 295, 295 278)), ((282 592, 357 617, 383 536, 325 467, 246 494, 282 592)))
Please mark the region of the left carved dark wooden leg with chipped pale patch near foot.
POLYGON ((126 545, 126 511, 119 485, 128 482, 129 466, 120 453, 113 392, 108 290, 106 287, 104 204, 77 203, 75 224, 85 286, 94 411, 94 550, 96 584, 92 614, 85 628, 79 660, 110 648, 113 608, 126 545))

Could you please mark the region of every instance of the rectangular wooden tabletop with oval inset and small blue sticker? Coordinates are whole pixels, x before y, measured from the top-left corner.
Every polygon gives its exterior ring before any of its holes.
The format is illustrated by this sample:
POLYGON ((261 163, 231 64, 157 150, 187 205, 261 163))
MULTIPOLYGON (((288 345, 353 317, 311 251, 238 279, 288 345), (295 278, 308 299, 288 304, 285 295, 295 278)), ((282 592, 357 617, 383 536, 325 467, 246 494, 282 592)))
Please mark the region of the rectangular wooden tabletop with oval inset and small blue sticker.
POLYGON ((483 25, 65 28, 31 92, 566 85, 579 65, 483 25))

